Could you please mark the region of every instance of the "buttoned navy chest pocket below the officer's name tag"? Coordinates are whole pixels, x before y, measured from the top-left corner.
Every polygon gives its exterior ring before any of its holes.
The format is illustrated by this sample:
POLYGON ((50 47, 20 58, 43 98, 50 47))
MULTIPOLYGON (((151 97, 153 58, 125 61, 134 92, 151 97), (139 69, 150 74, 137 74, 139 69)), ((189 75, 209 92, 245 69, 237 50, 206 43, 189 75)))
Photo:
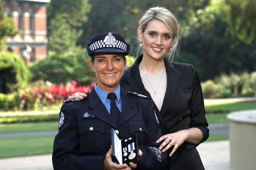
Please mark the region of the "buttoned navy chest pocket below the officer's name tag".
POLYGON ((92 119, 86 122, 79 122, 79 135, 83 152, 97 152, 105 149, 104 122, 97 122, 92 119))

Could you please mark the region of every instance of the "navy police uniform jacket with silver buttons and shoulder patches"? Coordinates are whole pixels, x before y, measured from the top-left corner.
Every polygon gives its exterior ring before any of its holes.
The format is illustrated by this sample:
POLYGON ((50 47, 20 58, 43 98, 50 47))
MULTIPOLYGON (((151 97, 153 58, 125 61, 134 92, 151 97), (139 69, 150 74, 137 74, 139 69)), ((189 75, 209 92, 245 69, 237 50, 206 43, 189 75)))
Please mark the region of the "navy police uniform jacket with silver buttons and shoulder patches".
POLYGON ((122 109, 115 124, 94 88, 86 100, 66 102, 60 111, 59 133, 53 144, 53 167, 61 170, 103 170, 103 159, 110 149, 111 129, 119 139, 137 134, 143 152, 136 169, 162 169, 167 152, 161 153, 156 140, 162 136, 154 102, 146 96, 121 89, 122 109))

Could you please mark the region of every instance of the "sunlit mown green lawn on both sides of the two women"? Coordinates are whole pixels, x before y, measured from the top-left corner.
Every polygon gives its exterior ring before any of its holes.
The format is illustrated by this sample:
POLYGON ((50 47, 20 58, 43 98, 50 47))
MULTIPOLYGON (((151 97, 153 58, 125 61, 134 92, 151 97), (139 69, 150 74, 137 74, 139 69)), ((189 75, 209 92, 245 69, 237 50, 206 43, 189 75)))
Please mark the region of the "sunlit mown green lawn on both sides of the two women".
MULTIPOLYGON (((205 110, 208 123, 228 122, 227 114, 232 111, 256 109, 256 101, 206 100, 205 110), (213 102, 214 101, 214 102, 213 102)), ((59 111, 0 112, 0 133, 58 130, 59 111), (18 116, 17 116, 18 115, 18 116), (35 121, 35 122, 31 122, 35 121), (48 122, 42 122, 48 121, 48 122), (10 123, 27 122, 27 123, 10 123)), ((210 134, 207 141, 228 140, 228 135, 210 134)), ((54 136, 1 137, 0 158, 52 153, 54 136)), ((207 142, 206 141, 206 142, 207 142)))

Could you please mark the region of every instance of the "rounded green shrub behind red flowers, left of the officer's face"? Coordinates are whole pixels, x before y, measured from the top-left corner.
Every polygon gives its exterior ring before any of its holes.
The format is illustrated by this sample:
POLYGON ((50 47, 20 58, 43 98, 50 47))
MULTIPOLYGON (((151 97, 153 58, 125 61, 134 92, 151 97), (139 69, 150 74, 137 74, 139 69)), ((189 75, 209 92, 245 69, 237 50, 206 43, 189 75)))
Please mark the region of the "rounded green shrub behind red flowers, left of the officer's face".
POLYGON ((85 54, 86 50, 79 48, 69 54, 50 52, 46 58, 31 64, 32 81, 44 80, 66 84, 71 80, 76 80, 79 84, 90 84, 93 74, 89 71, 89 57, 85 54))

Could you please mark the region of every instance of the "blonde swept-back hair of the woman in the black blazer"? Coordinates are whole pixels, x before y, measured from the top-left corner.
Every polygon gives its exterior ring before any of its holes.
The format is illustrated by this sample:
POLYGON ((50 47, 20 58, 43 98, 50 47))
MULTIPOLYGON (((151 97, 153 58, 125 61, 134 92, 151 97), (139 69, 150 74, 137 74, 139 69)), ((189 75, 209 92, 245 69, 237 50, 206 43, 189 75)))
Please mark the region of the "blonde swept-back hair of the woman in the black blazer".
MULTIPOLYGON (((169 58, 169 60, 171 59, 172 61, 176 52, 176 48, 178 46, 178 33, 180 29, 180 25, 178 24, 175 15, 165 7, 149 8, 139 20, 139 27, 142 33, 144 33, 146 27, 148 26, 148 22, 150 22, 151 20, 160 20, 164 22, 170 33, 173 35, 173 45, 171 47, 172 50, 165 55, 169 58)), ((139 46, 140 41, 138 35, 135 44, 137 47, 135 51, 135 56, 136 58, 138 58, 140 54, 143 54, 143 47, 139 46)))

